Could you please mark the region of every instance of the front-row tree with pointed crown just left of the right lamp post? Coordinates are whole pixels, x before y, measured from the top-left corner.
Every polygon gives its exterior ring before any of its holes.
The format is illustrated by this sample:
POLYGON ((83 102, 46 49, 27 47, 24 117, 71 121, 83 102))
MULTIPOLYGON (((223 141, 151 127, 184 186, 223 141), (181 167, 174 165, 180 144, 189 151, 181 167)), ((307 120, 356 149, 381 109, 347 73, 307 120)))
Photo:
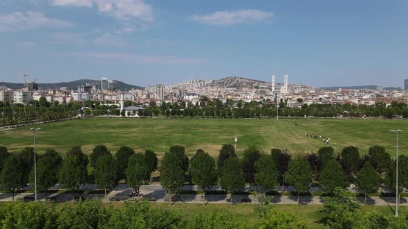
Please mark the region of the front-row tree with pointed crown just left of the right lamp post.
POLYGON ((377 171, 367 161, 357 175, 357 188, 364 191, 364 205, 366 204, 367 194, 377 192, 381 185, 381 177, 377 171))

